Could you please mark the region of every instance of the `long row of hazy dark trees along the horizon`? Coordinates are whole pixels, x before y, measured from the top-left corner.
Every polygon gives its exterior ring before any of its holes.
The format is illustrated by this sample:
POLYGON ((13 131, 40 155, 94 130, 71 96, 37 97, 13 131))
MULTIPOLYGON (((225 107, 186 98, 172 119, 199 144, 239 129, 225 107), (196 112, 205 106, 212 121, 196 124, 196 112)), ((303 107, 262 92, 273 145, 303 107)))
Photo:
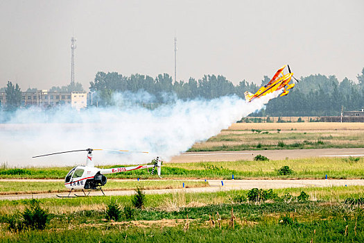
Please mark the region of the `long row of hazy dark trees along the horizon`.
MULTIPOLYGON (((345 78, 339 82, 336 76, 321 74, 300 78, 290 94, 279 99, 272 99, 265 110, 254 116, 323 116, 339 115, 341 106, 344 110, 360 110, 364 107, 364 68, 358 74, 358 83, 345 78)), ((261 85, 270 81, 264 76, 261 85)), ((123 76, 117 72, 98 72, 89 89, 96 92, 94 104, 112 105, 113 92, 139 92, 144 90, 156 97, 155 102, 164 102, 164 93, 174 93, 179 99, 214 99, 236 94, 244 98, 244 92, 257 92, 261 85, 241 81, 233 85, 224 76, 205 75, 196 80, 175 82, 168 74, 159 74, 156 78, 141 74, 123 76)))

